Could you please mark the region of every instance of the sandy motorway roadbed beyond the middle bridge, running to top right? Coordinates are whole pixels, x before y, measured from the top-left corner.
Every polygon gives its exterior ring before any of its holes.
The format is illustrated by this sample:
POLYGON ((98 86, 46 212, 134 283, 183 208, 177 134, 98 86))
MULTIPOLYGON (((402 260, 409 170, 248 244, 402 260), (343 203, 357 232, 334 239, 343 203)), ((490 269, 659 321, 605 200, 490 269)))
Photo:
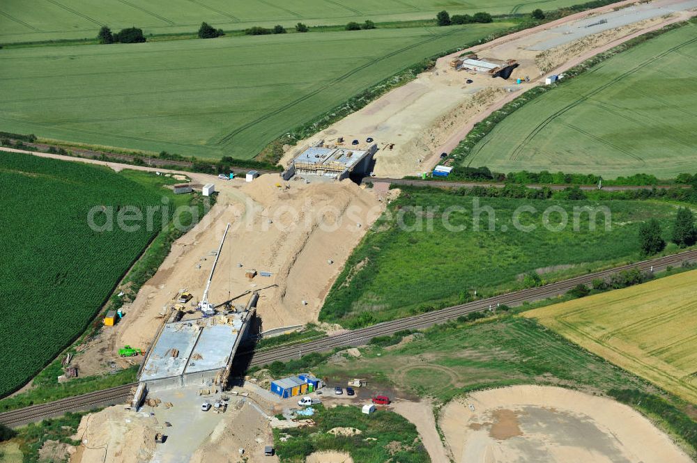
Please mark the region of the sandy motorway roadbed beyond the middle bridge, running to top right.
POLYGON ((363 142, 372 137, 381 148, 375 156, 376 175, 401 178, 430 171, 441 152, 450 152, 475 123, 544 84, 546 75, 560 74, 634 36, 687 19, 696 14, 696 7, 695 0, 613 3, 469 49, 484 59, 516 59, 520 65, 508 80, 454 71, 450 61, 462 52, 445 56, 429 72, 301 141, 286 152, 282 164, 321 139, 330 142, 344 136, 363 142), (615 11, 619 7, 623 8, 615 11), (602 19, 607 22, 596 24, 602 19), (529 83, 516 84, 526 76, 529 83), (466 79, 473 83, 466 84, 466 79), (385 149, 388 143, 395 143, 394 149, 385 149))

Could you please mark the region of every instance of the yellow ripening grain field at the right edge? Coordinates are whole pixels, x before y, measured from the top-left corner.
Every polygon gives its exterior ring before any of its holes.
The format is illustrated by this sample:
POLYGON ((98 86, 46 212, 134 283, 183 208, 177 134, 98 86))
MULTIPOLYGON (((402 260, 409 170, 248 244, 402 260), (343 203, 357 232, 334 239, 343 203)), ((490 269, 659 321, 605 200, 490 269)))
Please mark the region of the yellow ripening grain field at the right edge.
POLYGON ((697 403, 697 271, 524 313, 697 403))

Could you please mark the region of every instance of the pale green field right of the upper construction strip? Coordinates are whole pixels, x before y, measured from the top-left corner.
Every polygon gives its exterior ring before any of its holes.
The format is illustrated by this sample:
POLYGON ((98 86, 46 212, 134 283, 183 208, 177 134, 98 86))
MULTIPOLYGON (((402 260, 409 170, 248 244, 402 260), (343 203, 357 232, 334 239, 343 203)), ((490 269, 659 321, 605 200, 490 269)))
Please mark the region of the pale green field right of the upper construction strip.
POLYGON ((697 171, 696 56, 694 22, 652 38, 528 102, 463 162, 606 178, 697 171))

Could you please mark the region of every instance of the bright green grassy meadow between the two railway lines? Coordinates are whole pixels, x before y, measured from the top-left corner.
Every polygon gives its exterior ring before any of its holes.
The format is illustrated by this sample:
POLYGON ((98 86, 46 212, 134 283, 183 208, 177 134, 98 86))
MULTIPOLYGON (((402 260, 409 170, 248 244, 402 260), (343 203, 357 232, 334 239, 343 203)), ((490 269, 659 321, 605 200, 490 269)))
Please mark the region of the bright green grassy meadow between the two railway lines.
MULTIPOLYGON (((638 227, 656 217, 664 223, 666 239, 675 206, 657 201, 560 201, 514 198, 475 198, 447 191, 406 189, 388 207, 346 262, 325 301, 320 320, 355 327, 413 315, 433 308, 521 288, 523 274, 537 271, 544 280, 583 274, 592 269, 638 260, 638 227), (480 230, 473 230, 479 209, 491 208, 496 227, 489 231, 489 214, 480 214, 480 230), (526 233, 514 227, 514 212, 521 206, 537 212, 522 214, 521 224, 535 226, 526 233), (544 211, 559 207, 567 212, 567 226, 551 231, 544 226, 544 211), (574 207, 607 207, 611 230, 604 214, 595 217, 590 230, 588 214, 579 216, 574 231, 574 207), (429 207, 431 209, 429 209, 429 207), (447 215, 450 207, 460 212, 447 215), (422 212, 410 212, 420 208, 422 212), (404 219, 400 219, 401 216, 404 219), (450 231, 443 223, 466 226, 450 231), (406 230, 399 226, 406 223, 406 230), (415 227, 422 221, 421 229, 415 227), (428 224, 431 223, 431 230, 428 224), (417 228, 410 230, 410 228, 417 228)), ((561 215, 551 212, 550 225, 561 215)))

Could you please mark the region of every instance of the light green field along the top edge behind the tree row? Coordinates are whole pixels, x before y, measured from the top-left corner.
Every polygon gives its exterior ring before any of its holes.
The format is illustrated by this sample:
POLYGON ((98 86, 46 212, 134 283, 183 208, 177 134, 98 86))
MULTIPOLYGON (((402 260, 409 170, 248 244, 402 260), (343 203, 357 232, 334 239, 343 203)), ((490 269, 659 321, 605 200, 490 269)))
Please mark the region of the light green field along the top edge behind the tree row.
MULTIPOLYGON (((535 8, 571 6, 577 0, 5 0, 0 5, 0 43, 93 38, 100 27, 137 26, 148 34, 196 31, 206 21, 225 30, 250 26, 346 24, 430 19, 443 8, 450 14, 529 13, 535 8)), ((581 2, 582 3, 582 2, 581 2)))

